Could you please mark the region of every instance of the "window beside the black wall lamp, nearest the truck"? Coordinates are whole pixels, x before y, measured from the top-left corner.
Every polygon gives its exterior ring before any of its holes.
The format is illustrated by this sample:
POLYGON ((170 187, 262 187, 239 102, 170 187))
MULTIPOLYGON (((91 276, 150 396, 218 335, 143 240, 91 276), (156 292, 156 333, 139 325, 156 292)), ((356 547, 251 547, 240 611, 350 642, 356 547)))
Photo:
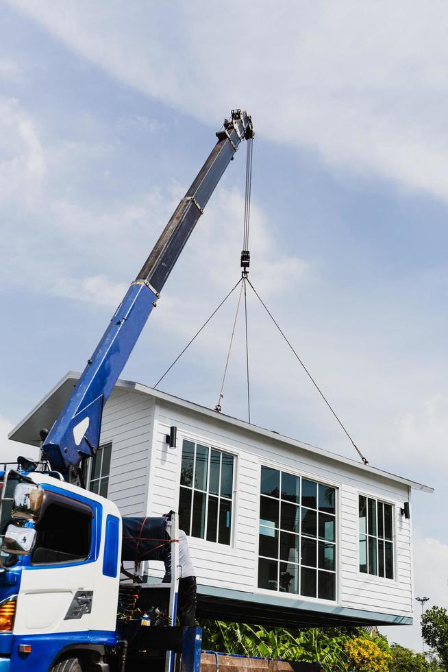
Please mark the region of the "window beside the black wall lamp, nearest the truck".
POLYGON ((233 490, 234 456, 184 440, 179 527, 189 536, 229 545, 233 490))

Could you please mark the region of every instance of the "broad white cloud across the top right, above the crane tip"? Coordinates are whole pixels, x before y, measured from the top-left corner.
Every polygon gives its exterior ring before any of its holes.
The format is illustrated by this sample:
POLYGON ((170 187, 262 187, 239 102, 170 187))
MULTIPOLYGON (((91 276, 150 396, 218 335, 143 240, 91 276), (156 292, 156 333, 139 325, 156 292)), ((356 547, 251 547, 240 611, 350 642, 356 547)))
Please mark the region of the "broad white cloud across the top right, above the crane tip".
POLYGON ((249 2, 238 8, 239 29, 232 12, 217 23, 216 6, 199 0, 172 11, 144 2, 10 3, 114 76, 201 121, 245 106, 275 141, 448 197, 442 0, 431 10, 417 0, 282 0, 275 12, 249 2))

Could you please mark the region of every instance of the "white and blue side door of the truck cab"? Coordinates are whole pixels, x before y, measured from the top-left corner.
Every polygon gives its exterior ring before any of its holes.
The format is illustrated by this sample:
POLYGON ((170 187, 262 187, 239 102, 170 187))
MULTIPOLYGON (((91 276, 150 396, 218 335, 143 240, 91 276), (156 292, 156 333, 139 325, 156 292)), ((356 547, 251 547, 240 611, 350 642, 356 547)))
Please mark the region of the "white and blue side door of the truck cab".
MULTIPOLYGON (((103 505, 53 485, 42 487, 36 544, 23 560, 14 637, 23 642, 25 635, 66 633, 90 641, 92 631, 101 630, 113 639, 119 577, 103 573, 103 505)), ((116 523, 119 527, 118 518, 116 523)))

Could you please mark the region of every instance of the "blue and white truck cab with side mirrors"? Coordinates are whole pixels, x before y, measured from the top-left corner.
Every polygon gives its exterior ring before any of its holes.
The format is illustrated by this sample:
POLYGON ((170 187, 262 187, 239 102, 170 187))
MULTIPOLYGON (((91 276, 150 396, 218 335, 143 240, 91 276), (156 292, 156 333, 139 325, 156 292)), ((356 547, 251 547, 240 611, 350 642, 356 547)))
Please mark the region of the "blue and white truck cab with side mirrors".
POLYGON ((117 642, 119 510, 49 473, 0 478, 0 671, 47 672, 71 649, 101 656, 117 642))

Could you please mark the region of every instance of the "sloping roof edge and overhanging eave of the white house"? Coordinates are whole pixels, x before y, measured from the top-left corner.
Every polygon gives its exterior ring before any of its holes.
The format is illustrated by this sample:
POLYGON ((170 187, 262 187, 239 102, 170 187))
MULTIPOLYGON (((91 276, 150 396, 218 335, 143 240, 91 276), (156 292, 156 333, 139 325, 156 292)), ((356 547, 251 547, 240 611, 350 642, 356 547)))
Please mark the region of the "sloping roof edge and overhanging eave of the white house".
MULTIPOLYGON (((79 379, 80 374, 74 371, 69 371, 65 376, 50 390, 48 394, 45 395, 42 400, 30 411, 21 422, 18 422, 16 427, 12 429, 9 433, 9 438, 13 441, 20 441, 31 446, 39 445, 39 431, 40 429, 46 427, 49 429, 55 419, 58 417, 60 411, 62 411, 66 400, 69 398, 69 395, 75 387, 77 380, 79 379)), ((275 441, 280 444, 287 444, 293 448, 300 448, 301 450, 320 455, 321 457, 326 457, 332 461, 336 461, 342 464, 346 464, 358 470, 364 472, 370 472, 373 475, 386 478, 388 480, 395 481, 397 483, 403 483, 404 485, 409 485, 411 488, 416 490, 422 490, 423 492, 434 492, 434 488, 430 488, 428 485, 423 485, 422 483, 416 483, 416 481, 410 481, 409 479, 391 474, 390 472, 377 469, 376 467, 371 466, 370 464, 361 464, 360 462, 350 459, 349 457, 344 457, 343 455, 337 455, 336 453, 330 453, 329 451, 323 450, 323 448, 317 448, 310 444, 306 444, 302 441, 297 441, 288 436, 277 433, 276 431, 270 429, 264 429, 263 427, 258 427, 256 424, 249 424, 244 420, 238 420, 238 418, 232 418, 232 416, 226 416, 224 413, 216 413, 209 408, 201 406, 199 404, 192 403, 185 399, 181 399, 172 394, 167 394, 166 392, 160 392, 158 389, 153 389, 153 387, 148 387, 147 385, 142 385, 142 383, 134 383, 132 381, 117 381, 115 387, 125 388, 125 389, 134 389, 136 392, 141 392, 142 394, 149 394, 155 398, 163 400, 168 403, 175 404, 180 407, 184 407, 190 411, 195 411, 196 413, 201 413, 203 416, 208 416, 215 421, 223 422, 223 424, 233 425, 239 429, 244 429, 246 431, 251 431, 252 433, 268 437, 269 440, 275 441)))

